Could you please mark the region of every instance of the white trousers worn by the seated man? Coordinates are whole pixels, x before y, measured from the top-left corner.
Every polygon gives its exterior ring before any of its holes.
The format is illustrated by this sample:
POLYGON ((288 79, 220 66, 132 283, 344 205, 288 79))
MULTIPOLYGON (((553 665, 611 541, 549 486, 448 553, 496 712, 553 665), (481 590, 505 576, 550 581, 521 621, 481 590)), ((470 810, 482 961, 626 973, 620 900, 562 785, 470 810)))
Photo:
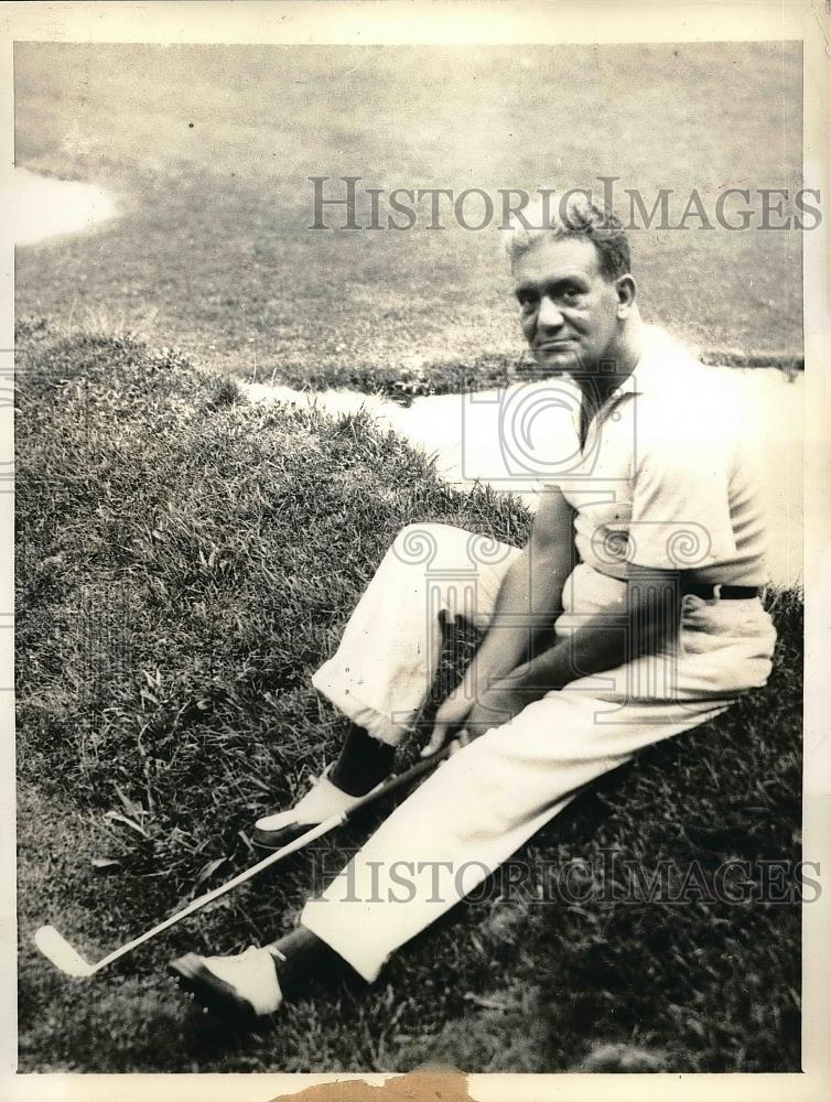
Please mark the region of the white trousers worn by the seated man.
MULTIPOLYGON (((487 627, 518 553, 444 525, 406 528, 313 684, 375 737, 400 742, 436 672, 440 613, 487 627)), ((557 636, 598 614, 619 628, 625 606, 624 582, 581 564, 564 587, 557 636)), ((303 926, 374 980, 391 952, 473 890, 569 793, 763 685, 775 638, 757 598, 688 594, 672 655, 572 681, 453 755, 306 904, 303 926)))

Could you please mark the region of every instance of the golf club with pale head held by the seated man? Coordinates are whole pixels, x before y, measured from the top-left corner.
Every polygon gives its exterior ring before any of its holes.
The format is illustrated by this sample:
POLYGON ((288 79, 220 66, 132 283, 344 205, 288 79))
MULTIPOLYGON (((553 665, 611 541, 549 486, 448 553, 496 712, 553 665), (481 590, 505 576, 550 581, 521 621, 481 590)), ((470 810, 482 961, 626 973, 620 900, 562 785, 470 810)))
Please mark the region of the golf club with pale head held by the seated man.
POLYGON ((42 926, 34 934, 34 943, 43 955, 65 975, 73 976, 76 980, 87 980, 89 976, 95 975, 96 972, 100 972, 101 969, 107 968, 107 965, 112 964, 122 957, 126 957, 127 953, 132 952, 133 949, 138 949, 139 946, 143 946, 145 941, 150 941, 150 939, 154 938, 158 933, 162 933, 164 930, 169 930, 171 926, 175 926, 176 922, 181 922, 183 918, 187 918, 188 915, 194 915, 197 910, 201 910, 202 907, 213 903, 214 899, 218 899, 227 892, 239 887, 240 884, 245 884, 247 880, 252 879, 252 877, 263 872, 263 869, 269 868, 283 857, 288 857, 289 854, 296 853, 298 850, 302 850, 303 846, 309 845, 310 842, 314 842, 315 839, 327 834, 336 827, 346 822, 347 819, 354 815, 361 808, 365 808, 369 803, 374 803, 376 800, 380 800, 382 797, 388 796, 398 788, 402 788, 404 785, 411 784, 413 780, 418 780, 419 777, 429 773, 433 766, 436 766, 441 760, 446 758, 453 748, 454 743, 451 742, 446 746, 443 746, 440 750, 436 750, 436 753, 431 754, 421 761, 418 761, 414 766, 412 766, 412 768, 406 769, 403 773, 391 777, 385 785, 381 785, 379 788, 363 797, 348 811, 343 811, 339 814, 332 815, 322 823, 316 823, 315 825, 310 827, 310 829, 304 834, 301 834, 300 838, 295 838, 293 841, 288 842, 279 850, 276 850, 267 857, 263 857, 262 861, 259 861, 256 865, 251 865, 250 868, 244 869, 244 872, 234 876, 226 884, 222 884, 219 887, 216 887, 213 890, 205 893, 205 895, 194 899, 182 910, 176 911, 175 915, 171 915, 170 918, 165 918, 151 930, 147 930, 132 941, 128 941, 127 944, 121 946, 120 949, 116 949, 111 953, 108 953, 107 957, 101 958, 101 960, 99 960, 96 964, 90 964, 88 961, 85 961, 77 949, 74 949, 54 926, 42 926))

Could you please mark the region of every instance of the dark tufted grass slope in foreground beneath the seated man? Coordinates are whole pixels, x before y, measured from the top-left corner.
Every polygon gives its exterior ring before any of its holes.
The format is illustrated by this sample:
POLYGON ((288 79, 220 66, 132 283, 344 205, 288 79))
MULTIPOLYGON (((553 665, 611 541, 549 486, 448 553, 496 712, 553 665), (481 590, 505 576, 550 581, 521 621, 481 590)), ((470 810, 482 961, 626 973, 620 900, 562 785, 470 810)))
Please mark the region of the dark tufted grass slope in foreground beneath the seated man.
MULTIPOLYGON (((129 339, 21 335, 21 1070, 549 1071, 605 1041, 666 1050, 678 1071, 796 1069, 794 906, 464 904, 369 992, 338 987, 248 1040, 188 1018, 163 964, 290 928, 309 855, 102 975, 94 997, 36 958, 46 919, 96 957, 251 862, 251 820, 336 743, 309 674, 403 523, 527 531, 520 509, 444 488, 363 419, 234 399, 129 339), (104 856, 114 875, 90 866, 104 856)), ((695 858, 708 876, 731 856, 798 858, 799 595, 775 615, 765 691, 598 784, 522 856, 613 849, 646 866, 695 858)))

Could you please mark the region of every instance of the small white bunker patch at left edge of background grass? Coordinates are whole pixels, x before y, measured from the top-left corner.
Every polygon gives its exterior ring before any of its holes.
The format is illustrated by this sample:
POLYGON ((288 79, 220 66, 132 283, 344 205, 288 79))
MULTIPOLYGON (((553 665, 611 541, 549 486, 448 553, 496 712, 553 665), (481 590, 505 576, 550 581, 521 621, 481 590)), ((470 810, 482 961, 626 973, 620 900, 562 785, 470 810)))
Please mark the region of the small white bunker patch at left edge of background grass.
POLYGON ((13 170, 11 194, 18 246, 82 234, 117 214, 116 201, 106 188, 42 176, 29 169, 13 170))

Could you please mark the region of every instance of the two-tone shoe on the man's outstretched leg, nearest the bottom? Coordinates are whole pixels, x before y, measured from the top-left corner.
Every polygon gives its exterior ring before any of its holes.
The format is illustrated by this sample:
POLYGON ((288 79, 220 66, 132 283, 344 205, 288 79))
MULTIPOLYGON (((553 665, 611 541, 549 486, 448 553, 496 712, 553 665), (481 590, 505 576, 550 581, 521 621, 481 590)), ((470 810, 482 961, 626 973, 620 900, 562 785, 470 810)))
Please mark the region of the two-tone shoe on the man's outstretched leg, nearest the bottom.
POLYGON ((250 1024, 280 1008, 283 995, 277 959, 268 949, 246 949, 238 957, 185 953, 170 970, 179 985, 219 1017, 250 1024))

